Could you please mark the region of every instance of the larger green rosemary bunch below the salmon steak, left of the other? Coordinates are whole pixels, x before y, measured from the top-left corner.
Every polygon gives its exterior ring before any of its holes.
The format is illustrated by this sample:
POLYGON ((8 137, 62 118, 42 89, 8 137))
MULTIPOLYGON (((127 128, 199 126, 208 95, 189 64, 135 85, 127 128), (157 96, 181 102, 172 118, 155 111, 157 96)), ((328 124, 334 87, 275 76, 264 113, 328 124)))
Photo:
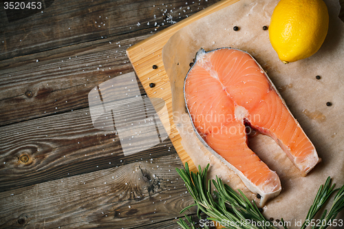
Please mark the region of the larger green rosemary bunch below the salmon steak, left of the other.
POLYGON ((208 186, 206 186, 208 167, 209 164, 202 171, 199 166, 199 172, 197 173, 190 173, 187 163, 185 164, 185 170, 176 168, 180 177, 184 180, 186 188, 188 188, 189 193, 195 200, 195 204, 184 208, 181 213, 192 206, 197 206, 198 217, 200 217, 202 211, 209 216, 209 220, 217 221, 226 228, 277 229, 261 215, 254 201, 251 204, 244 193, 239 190, 239 195, 230 186, 223 184, 219 177, 213 180, 213 185, 217 189, 217 191, 214 191, 216 196, 216 199, 214 199, 211 195, 211 180, 208 180, 208 186))

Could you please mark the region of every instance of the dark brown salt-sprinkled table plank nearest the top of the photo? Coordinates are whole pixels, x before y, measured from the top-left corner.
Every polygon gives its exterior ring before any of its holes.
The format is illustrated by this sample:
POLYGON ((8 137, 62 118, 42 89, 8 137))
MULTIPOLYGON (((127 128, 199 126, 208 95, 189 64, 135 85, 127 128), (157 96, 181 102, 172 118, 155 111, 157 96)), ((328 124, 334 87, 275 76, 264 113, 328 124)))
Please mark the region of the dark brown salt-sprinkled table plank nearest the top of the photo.
POLYGON ((56 0, 36 14, 32 10, 30 16, 10 22, 1 8, 0 60, 136 30, 155 32, 215 1, 202 0, 200 6, 200 1, 178 0, 56 0))

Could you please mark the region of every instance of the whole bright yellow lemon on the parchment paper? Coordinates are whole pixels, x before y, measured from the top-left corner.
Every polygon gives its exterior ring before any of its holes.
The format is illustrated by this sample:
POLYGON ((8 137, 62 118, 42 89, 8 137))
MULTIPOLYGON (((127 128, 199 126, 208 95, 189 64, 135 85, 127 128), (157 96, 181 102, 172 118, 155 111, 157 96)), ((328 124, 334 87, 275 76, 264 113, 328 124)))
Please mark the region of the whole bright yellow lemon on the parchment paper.
POLYGON ((323 0, 281 0, 272 13, 269 37, 283 63, 316 53, 327 34, 328 12, 323 0))

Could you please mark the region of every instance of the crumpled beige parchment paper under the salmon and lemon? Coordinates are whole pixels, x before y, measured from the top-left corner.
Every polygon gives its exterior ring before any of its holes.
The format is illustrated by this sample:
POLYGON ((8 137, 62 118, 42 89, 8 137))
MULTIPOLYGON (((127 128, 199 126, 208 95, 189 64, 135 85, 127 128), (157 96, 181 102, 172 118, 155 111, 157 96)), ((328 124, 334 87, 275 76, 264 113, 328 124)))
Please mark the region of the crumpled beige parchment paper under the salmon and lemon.
MULTIPOLYGON (((321 49, 310 58, 285 65, 270 45, 268 30, 262 29, 269 25, 277 3, 278 0, 241 0, 195 21, 171 37, 162 50, 162 59, 171 82, 173 120, 182 137, 182 146, 196 166, 204 168, 211 164, 209 178, 218 175, 256 202, 259 199, 239 177, 197 139, 185 113, 183 85, 189 63, 201 47, 206 51, 219 47, 244 50, 268 72, 322 158, 321 164, 302 177, 272 138, 259 134, 250 140, 250 148, 281 179, 281 194, 268 201, 264 215, 283 217, 290 222, 288 228, 299 228, 297 222, 305 219, 316 191, 327 176, 333 178, 337 187, 344 183, 344 23, 338 19, 338 0, 325 0, 330 26, 321 49), (233 30, 235 25, 239 27, 237 32, 233 30), (320 80, 316 80, 318 75, 320 80), (332 106, 327 107, 326 102, 332 102, 332 106)), ((344 219, 343 212, 337 219, 344 219)))

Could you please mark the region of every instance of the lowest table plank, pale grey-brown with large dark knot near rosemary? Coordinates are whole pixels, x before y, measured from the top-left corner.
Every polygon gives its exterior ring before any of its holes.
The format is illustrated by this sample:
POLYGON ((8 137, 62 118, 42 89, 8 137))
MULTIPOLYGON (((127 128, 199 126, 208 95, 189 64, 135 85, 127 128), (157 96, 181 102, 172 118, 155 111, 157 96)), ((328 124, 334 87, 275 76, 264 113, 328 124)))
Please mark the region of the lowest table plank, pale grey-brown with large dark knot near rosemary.
POLYGON ((175 171, 182 168, 176 156, 2 192, 0 228, 148 228, 182 217, 193 199, 175 171))

